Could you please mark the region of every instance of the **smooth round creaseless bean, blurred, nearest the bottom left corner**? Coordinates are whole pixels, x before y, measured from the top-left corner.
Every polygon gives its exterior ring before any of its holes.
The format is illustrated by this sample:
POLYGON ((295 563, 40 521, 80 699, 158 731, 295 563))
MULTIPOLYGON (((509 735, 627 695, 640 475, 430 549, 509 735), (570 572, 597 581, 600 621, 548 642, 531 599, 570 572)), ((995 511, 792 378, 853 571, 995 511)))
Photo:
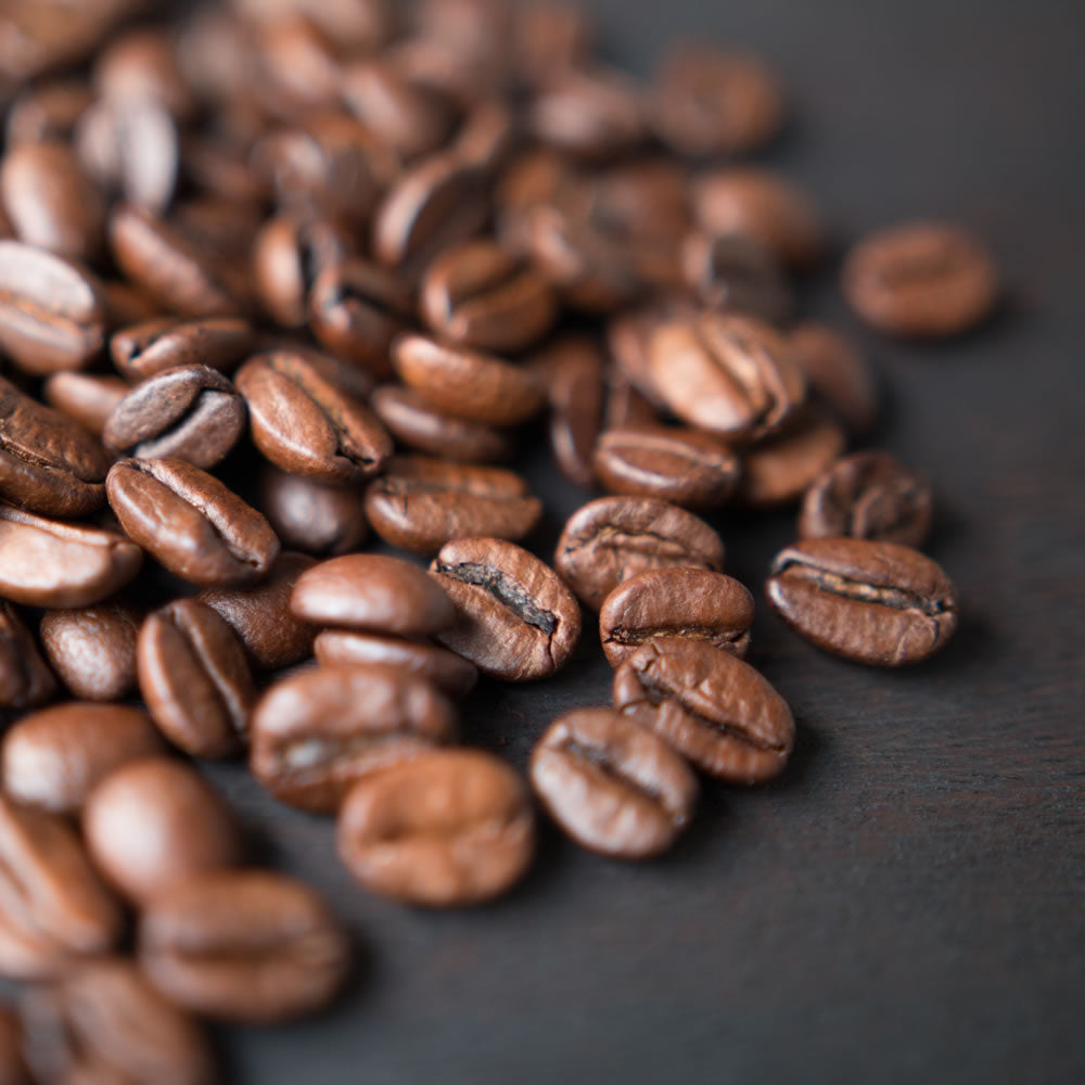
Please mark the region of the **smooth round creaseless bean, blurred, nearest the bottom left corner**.
POLYGON ((218 793, 181 762, 144 757, 87 799, 82 832, 94 865, 133 904, 241 860, 241 837, 218 793))

